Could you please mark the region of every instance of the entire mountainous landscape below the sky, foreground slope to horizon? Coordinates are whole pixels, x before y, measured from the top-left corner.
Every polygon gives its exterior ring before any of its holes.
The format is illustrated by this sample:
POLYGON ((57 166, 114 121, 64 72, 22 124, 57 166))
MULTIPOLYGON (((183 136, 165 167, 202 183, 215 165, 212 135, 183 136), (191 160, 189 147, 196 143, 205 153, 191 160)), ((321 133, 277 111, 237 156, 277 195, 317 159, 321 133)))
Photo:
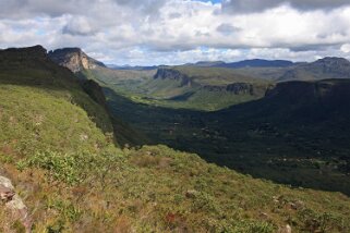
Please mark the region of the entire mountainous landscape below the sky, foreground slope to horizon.
POLYGON ((238 70, 0 50, 0 231, 349 232, 350 81, 238 70))

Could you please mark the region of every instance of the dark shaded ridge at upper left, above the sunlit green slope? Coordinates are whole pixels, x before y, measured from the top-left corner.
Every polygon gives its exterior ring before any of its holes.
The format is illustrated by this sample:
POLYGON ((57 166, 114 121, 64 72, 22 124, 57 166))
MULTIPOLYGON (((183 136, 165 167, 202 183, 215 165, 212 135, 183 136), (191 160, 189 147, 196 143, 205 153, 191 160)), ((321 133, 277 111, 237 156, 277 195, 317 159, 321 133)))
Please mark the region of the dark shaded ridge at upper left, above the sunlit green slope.
POLYGON ((41 87, 62 95, 82 107, 104 132, 112 132, 108 114, 102 107, 87 98, 76 77, 67 69, 51 62, 40 47, 0 51, 0 83, 41 87))

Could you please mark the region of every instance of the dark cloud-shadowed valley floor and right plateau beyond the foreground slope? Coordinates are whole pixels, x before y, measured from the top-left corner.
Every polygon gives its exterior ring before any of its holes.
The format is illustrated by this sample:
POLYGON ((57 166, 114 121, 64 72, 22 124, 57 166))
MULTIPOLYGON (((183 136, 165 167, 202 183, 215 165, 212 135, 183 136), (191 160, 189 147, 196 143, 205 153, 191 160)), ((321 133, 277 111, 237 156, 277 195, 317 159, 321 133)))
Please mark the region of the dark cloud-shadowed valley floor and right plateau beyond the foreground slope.
POLYGON ((280 83, 265 98, 216 112, 106 94, 112 113, 154 144, 256 177, 350 194, 349 93, 347 79, 280 83))

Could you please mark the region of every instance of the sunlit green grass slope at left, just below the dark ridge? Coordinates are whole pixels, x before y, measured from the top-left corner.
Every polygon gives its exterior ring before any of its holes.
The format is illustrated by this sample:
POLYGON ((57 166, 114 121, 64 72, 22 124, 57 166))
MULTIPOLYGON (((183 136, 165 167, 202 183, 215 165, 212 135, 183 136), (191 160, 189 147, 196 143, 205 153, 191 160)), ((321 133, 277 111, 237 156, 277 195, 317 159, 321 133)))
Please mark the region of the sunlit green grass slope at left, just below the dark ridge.
POLYGON ((0 86, 0 151, 29 155, 37 150, 99 151, 108 145, 86 111, 69 91, 0 86))

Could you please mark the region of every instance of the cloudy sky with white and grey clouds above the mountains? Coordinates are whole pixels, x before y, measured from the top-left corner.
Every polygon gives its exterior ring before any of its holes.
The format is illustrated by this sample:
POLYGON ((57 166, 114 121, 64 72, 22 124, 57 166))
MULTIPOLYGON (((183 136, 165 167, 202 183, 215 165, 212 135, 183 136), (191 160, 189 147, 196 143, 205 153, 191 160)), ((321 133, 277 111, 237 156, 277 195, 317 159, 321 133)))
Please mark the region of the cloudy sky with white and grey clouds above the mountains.
POLYGON ((0 32, 118 65, 350 59, 350 0, 0 0, 0 32))

